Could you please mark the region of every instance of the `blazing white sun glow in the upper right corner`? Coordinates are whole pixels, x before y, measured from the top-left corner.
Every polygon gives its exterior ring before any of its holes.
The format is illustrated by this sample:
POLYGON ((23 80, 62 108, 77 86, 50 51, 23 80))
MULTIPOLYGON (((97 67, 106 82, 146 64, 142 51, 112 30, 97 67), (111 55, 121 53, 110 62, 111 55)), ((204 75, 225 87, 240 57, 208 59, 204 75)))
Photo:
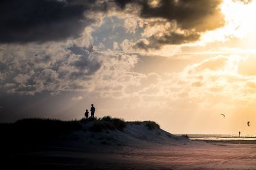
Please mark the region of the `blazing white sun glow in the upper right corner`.
POLYGON ((205 46, 209 43, 225 43, 214 49, 215 53, 256 53, 256 22, 252 18, 256 16, 256 1, 244 4, 240 1, 224 0, 220 10, 225 17, 225 26, 202 34, 200 41, 191 43, 191 46, 205 46))

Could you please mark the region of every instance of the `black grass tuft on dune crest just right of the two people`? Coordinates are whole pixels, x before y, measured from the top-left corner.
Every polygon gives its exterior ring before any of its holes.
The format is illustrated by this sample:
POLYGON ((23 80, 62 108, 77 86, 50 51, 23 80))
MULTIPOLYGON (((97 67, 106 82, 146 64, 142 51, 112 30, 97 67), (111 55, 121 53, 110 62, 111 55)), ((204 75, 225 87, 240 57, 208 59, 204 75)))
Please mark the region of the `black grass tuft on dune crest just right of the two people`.
POLYGON ((98 121, 94 122, 92 127, 90 128, 93 132, 101 132, 103 129, 109 129, 111 131, 119 130, 123 131, 125 128, 126 123, 124 120, 120 118, 111 118, 111 117, 103 117, 99 118, 98 121))

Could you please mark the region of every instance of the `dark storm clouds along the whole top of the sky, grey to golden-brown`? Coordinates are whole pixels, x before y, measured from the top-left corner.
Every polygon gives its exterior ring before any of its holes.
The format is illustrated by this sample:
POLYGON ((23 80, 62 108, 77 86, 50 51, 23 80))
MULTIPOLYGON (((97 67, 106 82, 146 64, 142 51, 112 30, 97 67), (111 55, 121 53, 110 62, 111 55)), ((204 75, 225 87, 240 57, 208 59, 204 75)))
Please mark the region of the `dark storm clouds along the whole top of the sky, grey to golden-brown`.
MULTIPOLYGON (((170 41, 150 41, 157 45, 180 44, 195 41, 198 32, 216 29, 223 25, 223 15, 218 8, 221 0, 160 0, 159 6, 150 6, 145 0, 113 0, 121 11, 126 4, 133 3, 141 7, 141 18, 164 18, 175 21, 180 29, 196 31, 188 35, 167 32, 163 38, 170 41), (180 40, 175 39, 179 36, 180 40), (193 37, 193 38, 192 38, 193 37)), ((86 25, 92 24, 92 18, 86 17, 88 11, 107 11, 107 4, 113 1, 95 0, 3 0, 0 1, 0 43, 29 43, 61 41, 77 38, 86 25)), ((121 12, 120 11, 120 12, 121 12)), ((165 33, 165 32, 163 32, 165 33)))

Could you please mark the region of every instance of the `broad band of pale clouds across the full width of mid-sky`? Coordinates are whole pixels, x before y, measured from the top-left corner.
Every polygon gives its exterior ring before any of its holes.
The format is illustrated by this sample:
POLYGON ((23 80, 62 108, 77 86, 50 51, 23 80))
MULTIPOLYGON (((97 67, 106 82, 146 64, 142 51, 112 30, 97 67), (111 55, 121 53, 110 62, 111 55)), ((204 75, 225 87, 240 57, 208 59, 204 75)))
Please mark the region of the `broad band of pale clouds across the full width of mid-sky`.
MULTIPOLYGON (((126 41, 122 48, 128 48, 126 41)), ((253 56, 219 55, 190 64, 179 73, 159 75, 132 71, 138 63, 134 54, 89 52, 80 47, 72 52, 61 44, 1 47, 6 50, 0 52, 4 64, 0 85, 8 92, 84 91, 115 99, 137 97, 149 106, 178 108, 181 103, 214 105, 214 96, 223 103, 253 102, 256 79, 251 74, 253 67, 245 67, 253 63, 253 56)))

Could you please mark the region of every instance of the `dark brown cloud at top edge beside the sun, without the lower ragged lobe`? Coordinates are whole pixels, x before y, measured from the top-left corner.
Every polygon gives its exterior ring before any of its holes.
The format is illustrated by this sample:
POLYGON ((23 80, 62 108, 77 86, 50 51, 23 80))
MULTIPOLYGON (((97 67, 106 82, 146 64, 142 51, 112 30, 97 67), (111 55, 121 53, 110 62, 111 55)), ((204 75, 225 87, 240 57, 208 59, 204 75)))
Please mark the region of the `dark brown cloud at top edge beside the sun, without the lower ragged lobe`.
POLYGON ((143 0, 115 0, 120 8, 134 3, 141 6, 142 18, 165 18, 175 20, 182 29, 206 31, 216 29, 224 24, 224 17, 219 5, 222 0, 160 0, 159 6, 150 6, 143 0))

